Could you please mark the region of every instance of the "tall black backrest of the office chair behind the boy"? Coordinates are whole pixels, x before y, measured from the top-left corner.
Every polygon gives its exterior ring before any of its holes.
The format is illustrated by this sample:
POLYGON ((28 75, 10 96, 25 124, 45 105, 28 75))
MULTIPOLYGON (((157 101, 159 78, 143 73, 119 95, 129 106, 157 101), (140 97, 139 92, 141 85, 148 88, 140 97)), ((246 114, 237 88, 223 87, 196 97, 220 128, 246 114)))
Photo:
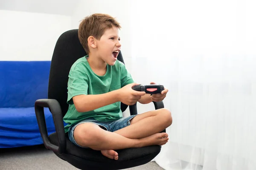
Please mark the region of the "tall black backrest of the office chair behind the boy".
MULTIPOLYGON (((58 38, 49 74, 48 99, 56 99, 61 105, 63 116, 67 113, 67 81, 71 66, 77 59, 86 56, 86 52, 79 42, 78 29, 66 31, 58 38)), ((124 63, 121 52, 117 59, 124 63)), ((121 103, 121 110, 127 105, 121 103)))

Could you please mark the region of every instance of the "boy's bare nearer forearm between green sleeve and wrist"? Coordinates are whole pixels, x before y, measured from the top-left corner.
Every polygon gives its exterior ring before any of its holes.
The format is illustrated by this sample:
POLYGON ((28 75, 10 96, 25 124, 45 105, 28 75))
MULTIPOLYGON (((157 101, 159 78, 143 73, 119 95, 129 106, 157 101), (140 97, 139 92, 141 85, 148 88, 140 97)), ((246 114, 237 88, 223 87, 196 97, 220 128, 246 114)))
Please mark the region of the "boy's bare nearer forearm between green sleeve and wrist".
POLYGON ((118 96, 117 90, 105 94, 81 94, 74 96, 73 102, 78 112, 87 112, 118 102, 118 96))

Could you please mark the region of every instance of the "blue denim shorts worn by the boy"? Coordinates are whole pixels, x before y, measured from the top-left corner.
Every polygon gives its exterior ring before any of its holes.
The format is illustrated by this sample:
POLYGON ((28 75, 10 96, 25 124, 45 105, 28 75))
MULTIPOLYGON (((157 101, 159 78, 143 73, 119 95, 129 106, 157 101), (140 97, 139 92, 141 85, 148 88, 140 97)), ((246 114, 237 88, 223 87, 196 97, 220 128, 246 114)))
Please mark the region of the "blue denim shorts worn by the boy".
MULTIPOLYGON (((99 127, 101 127, 104 130, 108 130, 110 132, 114 132, 116 130, 119 130, 119 129, 122 129, 122 128, 126 127, 126 126, 131 125, 130 120, 132 118, 134 118, 135 116, 137 116, 137 115, 131 115, 131 116, 124 117, 122 119, 118 119, 116 121, 111 121, 111 122, 100 122, 100 121, 95 120, 93 118, 85 119, 85 120, 77 123, 76 125, 70 126, 69 129, 68 129, 68 136, 69 136, 70 141, 73 144, 76 144, 76 146, 82 147, 82 146, 80 146, 79 144, 76 143, 76 140, 74 138, 74 130, 75 130, 77 125, 80 125, 82 123, 87 123, 87 122, 88 123, 94 123, 96 125, 99 125, 99 127)), ((85 147, 85 148, 88 148, 88 147, 85 147)))

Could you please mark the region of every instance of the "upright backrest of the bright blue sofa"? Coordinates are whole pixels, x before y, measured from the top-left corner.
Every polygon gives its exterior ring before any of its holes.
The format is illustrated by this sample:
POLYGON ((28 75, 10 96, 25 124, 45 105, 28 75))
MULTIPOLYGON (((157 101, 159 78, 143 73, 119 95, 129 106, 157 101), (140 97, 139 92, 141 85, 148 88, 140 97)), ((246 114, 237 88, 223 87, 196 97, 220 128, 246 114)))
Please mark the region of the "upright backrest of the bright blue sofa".
POLYGON ((0 108, 27 108, 47 98, 50 61, 0 61, 0 108))

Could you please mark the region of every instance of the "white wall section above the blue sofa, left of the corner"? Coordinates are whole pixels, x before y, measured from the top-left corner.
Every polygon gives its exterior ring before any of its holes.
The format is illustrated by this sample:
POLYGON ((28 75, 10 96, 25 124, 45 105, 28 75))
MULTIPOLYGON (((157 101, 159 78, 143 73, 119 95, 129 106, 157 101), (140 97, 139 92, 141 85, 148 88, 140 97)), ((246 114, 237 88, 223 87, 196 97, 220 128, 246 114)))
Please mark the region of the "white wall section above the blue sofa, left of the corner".
POLYGON ((0 10, 0 60, 51 60, 58 37, 71 29, 71 17, 0 10))

